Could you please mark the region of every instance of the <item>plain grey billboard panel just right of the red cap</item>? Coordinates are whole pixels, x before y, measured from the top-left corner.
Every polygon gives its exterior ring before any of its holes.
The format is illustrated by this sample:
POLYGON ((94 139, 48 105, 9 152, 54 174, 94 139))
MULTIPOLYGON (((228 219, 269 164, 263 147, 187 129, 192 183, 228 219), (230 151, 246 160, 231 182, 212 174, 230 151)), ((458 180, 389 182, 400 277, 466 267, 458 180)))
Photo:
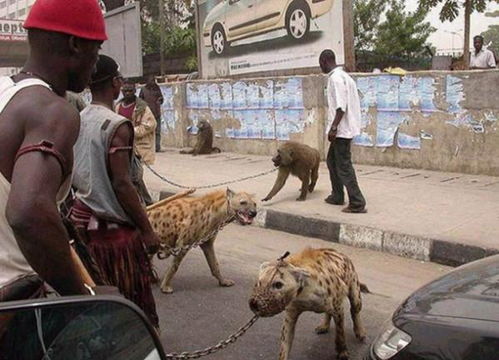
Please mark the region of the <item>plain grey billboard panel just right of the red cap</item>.
POLYGON ((120 64, 125 77, 142 76, 142 35, 140 7, 135 2, 107 12, 105 15, 108 40, 101 54, 111 56, 120 64))

